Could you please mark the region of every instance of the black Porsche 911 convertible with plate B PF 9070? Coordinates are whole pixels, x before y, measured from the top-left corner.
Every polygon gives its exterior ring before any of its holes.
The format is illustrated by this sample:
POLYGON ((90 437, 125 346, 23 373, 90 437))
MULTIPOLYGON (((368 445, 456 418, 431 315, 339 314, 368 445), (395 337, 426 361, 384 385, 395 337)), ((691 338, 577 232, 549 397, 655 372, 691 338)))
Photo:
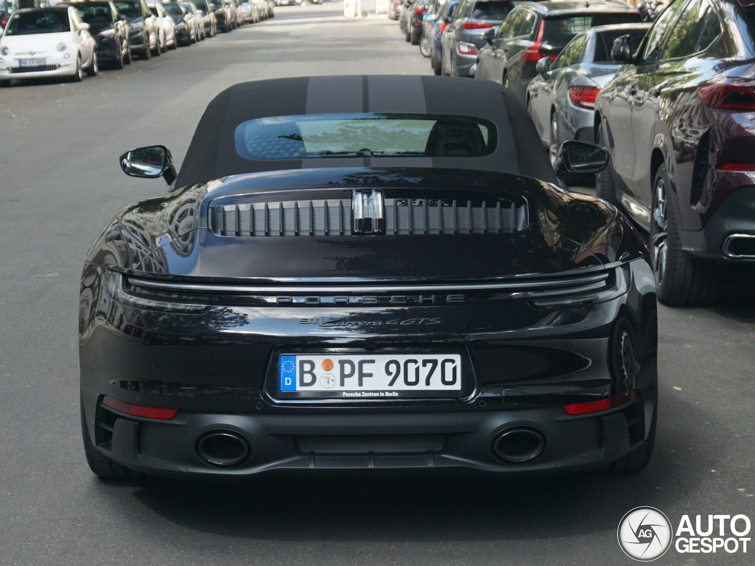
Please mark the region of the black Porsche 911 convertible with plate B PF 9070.
MULTIPOLYGON (((568 142, 558 171, 606 162, 568 142)), ((180 172, 165 146, 121 165, 170 191, 85 260, 97 475, 648 463, 648 250, 611 205, 559 188, 499 85, 247 82, 209 104, 180 172)))

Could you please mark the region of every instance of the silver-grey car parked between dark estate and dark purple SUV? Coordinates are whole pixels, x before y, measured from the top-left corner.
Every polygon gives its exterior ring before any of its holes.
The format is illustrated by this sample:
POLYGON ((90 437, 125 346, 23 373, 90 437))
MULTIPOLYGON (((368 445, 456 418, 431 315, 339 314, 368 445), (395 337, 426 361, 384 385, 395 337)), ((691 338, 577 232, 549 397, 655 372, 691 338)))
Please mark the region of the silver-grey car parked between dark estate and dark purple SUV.
POLYGON ((540 74, 527 87, 525 106, 551 163, 562 142, 593 141, 595 97, 620 67, 611 59, 613 42, 629 35, 632 45, 639 45, 649 28, 649 23, 620 23, 586 29, 575 35, 553 63, 548 56, 538 61, 540 74))

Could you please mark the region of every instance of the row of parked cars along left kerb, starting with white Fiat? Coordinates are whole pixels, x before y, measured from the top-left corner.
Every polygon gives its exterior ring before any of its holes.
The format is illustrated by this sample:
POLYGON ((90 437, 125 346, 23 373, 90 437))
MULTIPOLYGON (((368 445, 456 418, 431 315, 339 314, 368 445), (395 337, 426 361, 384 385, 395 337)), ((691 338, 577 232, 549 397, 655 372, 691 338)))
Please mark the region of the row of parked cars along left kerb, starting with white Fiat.
POLYGON ((100 65, 122 69, 217 32, 273 17, 273 0, 83 0, 4 15, 0 87, 14 79, 81 81, 100 65))

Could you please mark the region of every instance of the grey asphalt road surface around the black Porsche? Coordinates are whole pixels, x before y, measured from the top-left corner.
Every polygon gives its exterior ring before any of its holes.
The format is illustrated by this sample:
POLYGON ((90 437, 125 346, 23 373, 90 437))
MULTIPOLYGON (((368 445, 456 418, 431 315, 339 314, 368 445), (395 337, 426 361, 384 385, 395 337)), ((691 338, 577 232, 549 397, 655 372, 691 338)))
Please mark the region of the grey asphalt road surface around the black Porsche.
MULTIPOLYGON (((0 93, 0 564, 630 564, 616 528, 635 506, 675 528, 683 514, 755 522, 747 288, 716 308, 661 306, 658 440, 640 473, 242 485, 91 474, 79 429, 82 260, 113 214, 165 188, 126 177, 118 155, 165 143, 180 163, 206 104, 236 82, 431 72, 396 23, 342 14, 335 2, 277 8, 122 71, 0 93)), ((748 551, 670 549, 657 563, 752 564, 748 551)))

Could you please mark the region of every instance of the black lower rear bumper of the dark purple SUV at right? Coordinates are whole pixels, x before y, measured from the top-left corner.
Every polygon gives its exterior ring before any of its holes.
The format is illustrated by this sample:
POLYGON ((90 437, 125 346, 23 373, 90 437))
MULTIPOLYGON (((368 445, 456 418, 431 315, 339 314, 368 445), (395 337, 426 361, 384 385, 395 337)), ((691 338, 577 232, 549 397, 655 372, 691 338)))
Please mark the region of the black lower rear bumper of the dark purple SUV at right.
POLYGON ((725 255, 729 235, 755 235, 755 186, 736 189, 708 219, 701 230, 680 230, 682 249, 706 260, 738 264, 753 263, 752 258, 725 255))

